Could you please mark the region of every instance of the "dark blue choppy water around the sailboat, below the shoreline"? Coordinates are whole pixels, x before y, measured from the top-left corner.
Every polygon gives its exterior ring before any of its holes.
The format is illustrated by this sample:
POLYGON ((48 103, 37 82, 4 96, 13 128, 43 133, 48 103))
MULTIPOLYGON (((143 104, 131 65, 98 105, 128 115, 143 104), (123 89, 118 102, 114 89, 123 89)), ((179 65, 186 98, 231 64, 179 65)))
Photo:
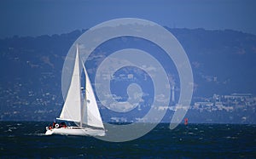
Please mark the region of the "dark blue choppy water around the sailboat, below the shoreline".
POLYGON ((256 158, 256 125, 160 124, 140 139, 44 135, 49 122, 0 122, 0 158, 256 158))

